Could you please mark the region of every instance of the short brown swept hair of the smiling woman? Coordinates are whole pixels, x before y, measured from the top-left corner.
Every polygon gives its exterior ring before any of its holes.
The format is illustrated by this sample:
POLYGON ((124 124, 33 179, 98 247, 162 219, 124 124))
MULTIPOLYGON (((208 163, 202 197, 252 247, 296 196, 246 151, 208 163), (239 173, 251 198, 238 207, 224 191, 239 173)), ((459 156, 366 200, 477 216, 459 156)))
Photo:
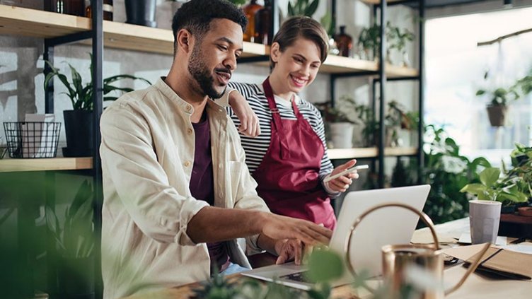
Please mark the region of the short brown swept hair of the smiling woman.
MULTIPOLYGON (((294 42, 299 37, 303 37, 306 40, 314 42, 318 49, 320 49, 320 60, 325 61, 329 52, 329 37, 325 28, 313 18, 307 16, 295 16, 285 20, 282 23, 281 28, 273 37, 273 42, 279 44, 279 50, 284 52, 287 47, 294 45, 294 42)), ((274 61, 270 57, 270 67, 273 69, 275 66, 274 61)))

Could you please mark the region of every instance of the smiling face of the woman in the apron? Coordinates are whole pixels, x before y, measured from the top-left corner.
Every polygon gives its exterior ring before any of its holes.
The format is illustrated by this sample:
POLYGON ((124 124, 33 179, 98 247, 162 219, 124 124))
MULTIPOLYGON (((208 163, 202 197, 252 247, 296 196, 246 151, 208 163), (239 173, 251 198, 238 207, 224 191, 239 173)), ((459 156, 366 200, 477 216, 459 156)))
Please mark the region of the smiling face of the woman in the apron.
POLYGON ((279 44, 272 45, 272 71, 274 80, 281 84, 278 93, 299 93, 314 81, 320 69, 320 49, 311 40, 299 37, 294 44, 281 52, 279 44))

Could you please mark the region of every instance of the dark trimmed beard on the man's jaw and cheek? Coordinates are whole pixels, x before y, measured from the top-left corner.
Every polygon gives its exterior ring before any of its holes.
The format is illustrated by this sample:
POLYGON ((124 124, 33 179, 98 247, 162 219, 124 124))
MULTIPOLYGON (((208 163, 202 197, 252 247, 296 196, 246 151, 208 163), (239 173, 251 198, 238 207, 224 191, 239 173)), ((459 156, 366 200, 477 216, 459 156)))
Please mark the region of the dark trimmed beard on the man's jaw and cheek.
POLYGON ((192 78, 198 83, 204 95, 212 99, 218 99, 224 95, 227 87, 221 93, 214 89, 214 78, 212 78, 209 68, 202 61, 202 55, 199 54, 199 45, 195 45, 194 49, 192 49, 190 61, 188 62, 188 71, 192 74, 192 78))

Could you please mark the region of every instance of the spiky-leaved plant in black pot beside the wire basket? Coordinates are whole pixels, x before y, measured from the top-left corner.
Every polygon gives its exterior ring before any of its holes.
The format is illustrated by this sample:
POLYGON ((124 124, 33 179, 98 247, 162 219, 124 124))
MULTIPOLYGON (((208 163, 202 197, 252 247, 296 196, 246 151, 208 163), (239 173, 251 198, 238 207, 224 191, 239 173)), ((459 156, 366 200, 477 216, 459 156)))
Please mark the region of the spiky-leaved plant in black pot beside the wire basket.
MULTIPOLYGON (((92 55, 91 66, 92 70, 92 55)), ((71 103, 73 110, 64 110, 64 129, 67 136, 67 148, 63 148, 63 156, 65 157, 82 157, 92 156, 93 154, 93 80, 91 71, 91 81, 83 85, 83 79, 74 66, 69 65, 71 73, 71 82, 68 81, 67 76, 56 69, 49 61, 45 61, 50 66, 50 73, 45 77, 45 90, 48 88, 48 83, 52 78, 57 76, 59 81, 67 88, 66 94, 71 103)), ((139 78, 131 75, 117 75, 110 76, 103 79, 103 100, 116 100, 117 97, 108 95, 112 91, 120 91, 127 93, 132 91, 132 88, 118 87, 112 85, 116 81, 122 79, 141 80, 149 85, 151 83, 144 78, 139 78)))

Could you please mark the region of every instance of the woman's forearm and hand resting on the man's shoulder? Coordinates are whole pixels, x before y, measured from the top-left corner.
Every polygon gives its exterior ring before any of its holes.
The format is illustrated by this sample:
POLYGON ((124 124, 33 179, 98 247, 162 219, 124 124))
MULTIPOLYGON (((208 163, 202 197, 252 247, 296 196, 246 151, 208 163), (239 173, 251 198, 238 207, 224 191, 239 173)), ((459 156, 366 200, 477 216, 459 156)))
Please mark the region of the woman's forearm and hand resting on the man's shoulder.
POLYGON ((229 105, 235 112, 236 117, 240 120, 238 131, 245 136, 256 137, 260 135, 259 118, 255 111, 251 109, 249 103, 238 90, 232 90, 229 93, 229 105))

